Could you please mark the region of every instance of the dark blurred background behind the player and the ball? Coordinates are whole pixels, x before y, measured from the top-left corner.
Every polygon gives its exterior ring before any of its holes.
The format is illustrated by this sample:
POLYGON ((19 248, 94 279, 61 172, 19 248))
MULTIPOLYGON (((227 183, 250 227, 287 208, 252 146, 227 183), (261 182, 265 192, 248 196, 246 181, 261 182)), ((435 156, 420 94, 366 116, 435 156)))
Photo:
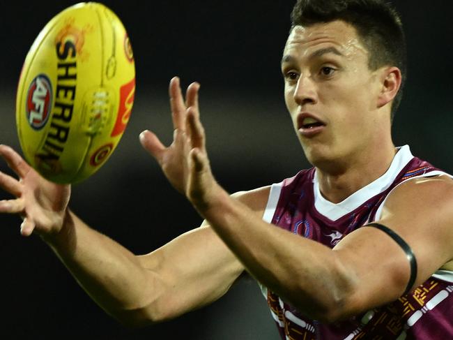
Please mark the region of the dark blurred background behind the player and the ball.
MULTIPOLYGON (((15 87, 44 27, 74 1, 8 1, 0 10, 0 142, 20 150, 15 87)), ((280 182, 308 165, 282 97, 279 60, 294 1, 105 1, 135 52, 137 93, 128 128, 109 161, 73 187, 70 207, 135 253, 148 253, 201 218, 141 149, 149 128, 171 140, 167 84, 201 82, 201 114, 213 171, 230 192, 280 182)), ((453 173, 453 1, 397 1, 408 38, 408 83, 394 142, 453 173)), ((10 173, 4 163, 0 170, 10 173)), ((0 193, 0 199, 8 198, 0 193)), ((20 236, 20 219, 0 216, 0 325, 10 339, 277 339, 252 280, 177 320, 128 330, 95 305, 52 251, 20 236)), ((183 251, 183 250, 182 250, 183 251)), ((2 336, 3 337, 3 336, 2 336)))

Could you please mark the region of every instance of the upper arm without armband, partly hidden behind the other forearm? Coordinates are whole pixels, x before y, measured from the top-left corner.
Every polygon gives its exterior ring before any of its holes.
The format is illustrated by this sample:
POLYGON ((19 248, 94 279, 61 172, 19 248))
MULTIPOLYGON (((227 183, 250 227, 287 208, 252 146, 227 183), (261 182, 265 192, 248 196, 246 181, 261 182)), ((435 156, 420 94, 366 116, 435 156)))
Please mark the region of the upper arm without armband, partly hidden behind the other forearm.
MULTIPOLYGON (((266 207, 268 187, 233 194, 257 215, 266 207)), ((141 265, 153 271, 157 297, 149 311, 153 320, 167 320, 219 299, 243 272, 242 263, 204 221, 144 256, 141 265)), ((156 294, 156 292, 152 292, 156 294)))

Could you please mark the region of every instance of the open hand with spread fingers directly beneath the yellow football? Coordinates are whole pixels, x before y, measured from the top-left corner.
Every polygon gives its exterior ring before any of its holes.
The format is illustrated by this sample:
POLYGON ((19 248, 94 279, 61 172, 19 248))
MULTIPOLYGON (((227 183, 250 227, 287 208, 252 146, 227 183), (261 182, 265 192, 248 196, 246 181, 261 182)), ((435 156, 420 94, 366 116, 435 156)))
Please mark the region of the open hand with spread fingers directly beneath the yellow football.
POLYGON ((47 181, 6 145, 0 145, 0 156, 19 177, 0 172, 1 189, 15 196, 0 200, 0 213, 20 215, 23 219, 20 233, 24 236, 32 232, 42 237, 58 234, 68 208, 70 185, 47 181))

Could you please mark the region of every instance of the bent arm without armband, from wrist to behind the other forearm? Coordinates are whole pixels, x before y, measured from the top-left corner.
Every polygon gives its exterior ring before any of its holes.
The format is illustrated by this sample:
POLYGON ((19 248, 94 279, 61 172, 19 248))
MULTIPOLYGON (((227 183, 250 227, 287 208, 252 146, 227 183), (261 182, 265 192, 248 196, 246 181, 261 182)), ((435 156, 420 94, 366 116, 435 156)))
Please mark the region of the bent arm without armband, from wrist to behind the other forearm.
POLYGON ((207 226, 135 256, 69 212, 64 230, 47 242, 93 300, 126 325, 158 323, 213 302, 243 272, 207 226))

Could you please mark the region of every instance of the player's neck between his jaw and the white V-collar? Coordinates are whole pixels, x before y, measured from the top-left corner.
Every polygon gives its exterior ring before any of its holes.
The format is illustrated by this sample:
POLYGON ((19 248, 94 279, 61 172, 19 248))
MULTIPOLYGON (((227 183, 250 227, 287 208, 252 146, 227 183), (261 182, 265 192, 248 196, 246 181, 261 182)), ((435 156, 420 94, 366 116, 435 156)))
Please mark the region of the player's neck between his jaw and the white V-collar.
POLYGON ((328 168, 316 167, 319 189, 324 198, 339 203, 381 177, 390 168, 397 150, 392 143, 386 147, 381 145, 376 150, 374 154, 369 149, 356 151, 353 159, 344 157, 348 159, 347 164, 338 162, 328 168))

